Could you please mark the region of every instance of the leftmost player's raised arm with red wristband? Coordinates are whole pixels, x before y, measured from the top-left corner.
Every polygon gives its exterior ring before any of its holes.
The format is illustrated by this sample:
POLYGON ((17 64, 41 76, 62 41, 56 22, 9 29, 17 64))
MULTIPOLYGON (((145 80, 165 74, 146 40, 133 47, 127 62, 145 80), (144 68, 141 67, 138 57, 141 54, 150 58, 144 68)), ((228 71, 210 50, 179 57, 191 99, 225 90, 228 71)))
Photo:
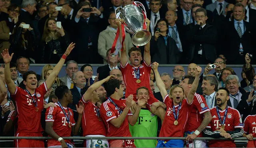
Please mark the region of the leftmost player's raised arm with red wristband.
POLYGON ((70 43, 70 45, 66 49, 65 53, 60 58, 60 61, 53 68, 52 73, 49 75, 49 77, 45 81, 45 83, 47 85, 47 89, 50 89, 50 87, 52 87, 52 84, 54 83, 55 78, 58 76, 58 74, 65 62, 66 57, 70 54, 70 52, 72 51, 72 49, 74 49, 74 47, 75 47, 75 43, 70 43))

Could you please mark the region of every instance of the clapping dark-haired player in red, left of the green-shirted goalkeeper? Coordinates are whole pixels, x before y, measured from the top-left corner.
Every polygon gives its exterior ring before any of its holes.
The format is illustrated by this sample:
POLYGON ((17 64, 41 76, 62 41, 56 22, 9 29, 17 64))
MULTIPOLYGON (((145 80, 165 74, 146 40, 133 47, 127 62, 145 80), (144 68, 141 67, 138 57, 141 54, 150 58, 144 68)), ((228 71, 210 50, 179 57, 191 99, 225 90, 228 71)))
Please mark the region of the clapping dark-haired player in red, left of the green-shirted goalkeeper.
MULTIPOLYGON (((146 104, 144 99, 138 100, 136 111, 132 115, 130 107, 132 106, 133 95, 126 99, 123 97, 122 81, 111 79, 104 85, 108 100, 100 106, 100 114, 107 128, 108 137, 131 137, 129 124, 134 126, 137 122, 140 109, 146 104)), ((134 140, 109 140, 112 148, 134 148, 134 140)))

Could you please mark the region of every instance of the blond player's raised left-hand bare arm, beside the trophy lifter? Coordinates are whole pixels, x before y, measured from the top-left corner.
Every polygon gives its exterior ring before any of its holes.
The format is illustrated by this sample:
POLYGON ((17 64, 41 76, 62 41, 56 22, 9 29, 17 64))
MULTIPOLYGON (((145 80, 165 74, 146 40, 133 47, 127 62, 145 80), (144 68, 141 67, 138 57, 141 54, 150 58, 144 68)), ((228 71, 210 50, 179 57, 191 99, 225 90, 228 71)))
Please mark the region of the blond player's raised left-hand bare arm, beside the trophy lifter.
POLYGON ((152 63, 152 68, 153 68, 153 71, 155 73, 155 77, 156 77, 156 85, 157 87, 159 88, 160 90, 160 93, 162 95, 162 98, 164 98, 168 93, 164 87, 164 82, 162 81, 161 77, 160 77, 160 74, 158 72, 158 63, 154 62, 152 63))

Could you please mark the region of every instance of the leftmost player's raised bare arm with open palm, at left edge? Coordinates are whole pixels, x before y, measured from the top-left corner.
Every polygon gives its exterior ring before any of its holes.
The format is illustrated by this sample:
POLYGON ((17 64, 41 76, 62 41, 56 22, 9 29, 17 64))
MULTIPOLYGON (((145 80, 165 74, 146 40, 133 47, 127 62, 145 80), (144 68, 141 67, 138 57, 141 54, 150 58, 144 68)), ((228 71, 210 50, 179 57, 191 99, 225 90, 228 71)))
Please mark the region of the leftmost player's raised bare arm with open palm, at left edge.
POLYGON ((7 85, 7 88, 11 95, 15 93, 16 85, 14 81, 11 79, 11 71, 10 71, 10 61, 12 60, 12 56, 14 53, 9 55, 9 50, 4 49, 1 53, 3 60, 4 60, 4 80, 7 85))

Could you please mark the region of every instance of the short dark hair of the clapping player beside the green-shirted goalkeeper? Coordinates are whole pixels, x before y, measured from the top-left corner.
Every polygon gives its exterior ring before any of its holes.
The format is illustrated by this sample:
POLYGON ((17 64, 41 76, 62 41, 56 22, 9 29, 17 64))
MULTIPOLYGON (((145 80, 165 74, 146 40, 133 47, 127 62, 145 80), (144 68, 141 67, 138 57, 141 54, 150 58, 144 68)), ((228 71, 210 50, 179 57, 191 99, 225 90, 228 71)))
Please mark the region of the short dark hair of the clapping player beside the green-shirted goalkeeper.
POLYGON ((104 84, 104 88, 107 92, 107 97, 114 94, 116 91, 116 88, 120 89, 121 84, 122 84, 122 81, 119 81, 118 79, 110 79, 108 82, 106 82, 104 84))

